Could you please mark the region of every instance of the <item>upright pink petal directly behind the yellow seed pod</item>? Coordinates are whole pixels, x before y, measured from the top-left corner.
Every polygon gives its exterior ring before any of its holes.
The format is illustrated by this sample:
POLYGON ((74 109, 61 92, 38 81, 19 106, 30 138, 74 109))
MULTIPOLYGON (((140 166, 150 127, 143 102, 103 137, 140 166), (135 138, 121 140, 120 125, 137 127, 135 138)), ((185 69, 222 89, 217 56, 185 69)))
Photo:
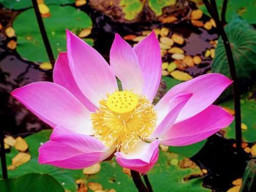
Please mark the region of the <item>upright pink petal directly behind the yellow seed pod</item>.
POLYGON ((123 89, 141 94, 143 75, 132 47, 116 34, 110 50, 110 68, 122 82, 123 89))

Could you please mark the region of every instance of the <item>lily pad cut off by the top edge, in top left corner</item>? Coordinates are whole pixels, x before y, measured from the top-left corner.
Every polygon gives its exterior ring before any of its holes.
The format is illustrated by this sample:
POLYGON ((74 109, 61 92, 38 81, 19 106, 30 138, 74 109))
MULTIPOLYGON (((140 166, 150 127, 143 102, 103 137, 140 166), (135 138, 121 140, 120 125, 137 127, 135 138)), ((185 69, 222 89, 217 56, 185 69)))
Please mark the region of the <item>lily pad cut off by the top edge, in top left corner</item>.
MULTIPOLYGON (((44 2, 46 5, 66 5, 75 3, 75 0, 45 0, 44 2)), ((32 1, 30 0, 0 0, 0 4, 14 10, 32 7, 32 1)))

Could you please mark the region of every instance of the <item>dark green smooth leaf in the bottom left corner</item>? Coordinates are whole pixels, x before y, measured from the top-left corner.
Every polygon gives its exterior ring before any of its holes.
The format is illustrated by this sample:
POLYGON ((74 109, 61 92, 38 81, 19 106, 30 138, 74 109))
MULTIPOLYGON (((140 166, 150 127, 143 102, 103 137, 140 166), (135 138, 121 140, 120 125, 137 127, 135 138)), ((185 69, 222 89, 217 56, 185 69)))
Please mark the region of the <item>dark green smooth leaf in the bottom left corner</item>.
POLYGON ((1 191, 65 192, 61 184, 47 174, 30 173, 15 179, 0 180, 1 191))

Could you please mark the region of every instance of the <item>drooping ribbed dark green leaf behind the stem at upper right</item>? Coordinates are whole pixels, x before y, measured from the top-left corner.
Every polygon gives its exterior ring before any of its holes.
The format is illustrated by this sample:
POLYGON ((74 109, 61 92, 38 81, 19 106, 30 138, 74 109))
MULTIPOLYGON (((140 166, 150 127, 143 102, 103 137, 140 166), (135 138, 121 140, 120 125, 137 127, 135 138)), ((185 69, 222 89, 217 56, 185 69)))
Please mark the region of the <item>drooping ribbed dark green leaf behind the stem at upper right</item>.
MULTIPOLYGON (((225 27, 236 65, 240 89, 255 79, 256 73, 256 30, 239 16, 234 17, 225 27)), ((228 61, 222 39, 219 38, 212 72, 229 75, 228 61)))

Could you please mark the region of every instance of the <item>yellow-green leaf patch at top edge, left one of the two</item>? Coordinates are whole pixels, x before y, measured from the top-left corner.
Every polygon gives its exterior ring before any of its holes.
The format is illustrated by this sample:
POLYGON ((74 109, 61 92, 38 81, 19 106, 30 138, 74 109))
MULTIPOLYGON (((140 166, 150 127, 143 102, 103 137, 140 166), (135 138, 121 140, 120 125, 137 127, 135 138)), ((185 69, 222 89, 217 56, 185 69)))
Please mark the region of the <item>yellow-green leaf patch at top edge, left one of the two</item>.
POLYGON ((133 20, 143 9, 143 3, 140 0, 121 0, 120 7, 126 20, 133 20))

